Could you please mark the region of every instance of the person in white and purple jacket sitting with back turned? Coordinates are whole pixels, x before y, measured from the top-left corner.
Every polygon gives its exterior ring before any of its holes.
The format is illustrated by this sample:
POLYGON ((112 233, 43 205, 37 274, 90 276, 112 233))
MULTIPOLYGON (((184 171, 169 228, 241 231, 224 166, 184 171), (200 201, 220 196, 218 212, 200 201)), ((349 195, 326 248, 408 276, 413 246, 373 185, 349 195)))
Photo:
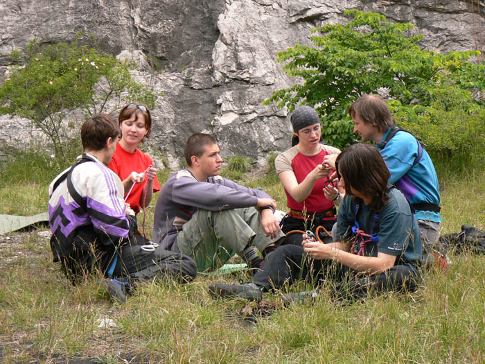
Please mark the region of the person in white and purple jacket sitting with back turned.
POLYGON ((134 211, 125 207, 123 184, 107 168, 120 137, 118 123, 98 114, 81 128, 84 153, 49 187, 49 223, 54 261, 73 284, 97 269, 112 297, 125 301, 133 281, 170 275, 188 280, 195 263, 161 250, 136 235, 134 211))

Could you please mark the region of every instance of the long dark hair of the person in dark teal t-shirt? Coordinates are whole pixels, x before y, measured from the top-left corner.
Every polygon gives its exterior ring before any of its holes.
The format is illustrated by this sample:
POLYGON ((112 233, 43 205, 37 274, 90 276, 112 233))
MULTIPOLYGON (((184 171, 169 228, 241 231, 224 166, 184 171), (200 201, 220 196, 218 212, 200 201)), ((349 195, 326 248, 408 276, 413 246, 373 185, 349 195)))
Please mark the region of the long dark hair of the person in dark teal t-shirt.
MULTIPOLYGON (((353 144, 337 157, 336 166, 345 182, 345 192, 351 195, 351 187, 372 198, 372 211, 380 212, 387 203, 387 183, 391 173, 375 146, 353 144)), ((355 200, 355 198, 354 198, 355 200)), ((355 200, 356 203, 360 201, 355 200)))

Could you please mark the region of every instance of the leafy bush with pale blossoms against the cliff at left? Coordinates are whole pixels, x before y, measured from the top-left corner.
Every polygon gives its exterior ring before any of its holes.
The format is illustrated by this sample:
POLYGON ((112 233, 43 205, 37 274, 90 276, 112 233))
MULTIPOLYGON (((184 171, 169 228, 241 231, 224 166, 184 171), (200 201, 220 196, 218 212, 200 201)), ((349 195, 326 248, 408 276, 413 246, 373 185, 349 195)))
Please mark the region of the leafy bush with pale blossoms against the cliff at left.
POLYGON ((62 142, 69 140, 69 126, 75 126, 69 112, 80 109, 92 116, 112 112, 127 101, 155 102, 153 92, 132 80, 130 62, 89 48, 79 38, 48 45, 32 40, 10 58, 17 65, 0 86, 0 114, 29 119, 62 157, 62 142), (113 101, 114 110, 105 110, 113 101))

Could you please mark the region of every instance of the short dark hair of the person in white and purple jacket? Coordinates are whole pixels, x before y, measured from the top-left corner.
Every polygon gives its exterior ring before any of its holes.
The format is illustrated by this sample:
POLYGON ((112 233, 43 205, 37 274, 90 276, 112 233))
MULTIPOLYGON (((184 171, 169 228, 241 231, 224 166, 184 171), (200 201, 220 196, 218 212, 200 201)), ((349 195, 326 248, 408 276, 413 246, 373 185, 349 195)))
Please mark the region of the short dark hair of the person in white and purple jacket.
POLYGON ((108 114, 97 114, 87 119, 81 127, 81 141, 84 150, 105 148, 108 138, 118 138, 121 130, 116 120, 108 114))

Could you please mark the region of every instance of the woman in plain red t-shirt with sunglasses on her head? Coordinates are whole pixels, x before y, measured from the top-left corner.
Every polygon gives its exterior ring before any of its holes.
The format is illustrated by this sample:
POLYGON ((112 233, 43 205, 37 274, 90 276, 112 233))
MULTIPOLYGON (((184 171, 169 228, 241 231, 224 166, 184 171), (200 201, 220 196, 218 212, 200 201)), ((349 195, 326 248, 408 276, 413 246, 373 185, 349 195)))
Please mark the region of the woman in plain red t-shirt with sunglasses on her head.
POLYGON ((121 140, 108 168, 120 177, 126 203, 138 214, 141 207, 150 205, 153 193, 160 191, 152 158, 138 149, 140 142, 150 137, 152 117, 146 105, 130 103, 121 109, 118 122, 121 140))

